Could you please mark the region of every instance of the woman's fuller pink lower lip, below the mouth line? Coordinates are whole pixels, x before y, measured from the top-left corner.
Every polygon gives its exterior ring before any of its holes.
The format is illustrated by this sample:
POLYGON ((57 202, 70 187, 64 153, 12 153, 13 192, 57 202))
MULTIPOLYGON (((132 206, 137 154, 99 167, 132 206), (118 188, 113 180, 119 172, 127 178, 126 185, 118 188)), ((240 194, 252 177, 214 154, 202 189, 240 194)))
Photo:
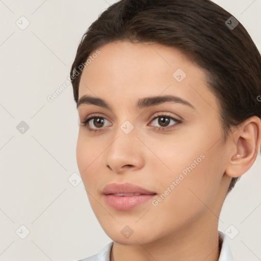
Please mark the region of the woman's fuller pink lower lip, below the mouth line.
POLYGON ((152 200, 154 195, 139 195, 139 196, 125 196, 119 197, 114 195, 104 195, 105 202, 115 210, 128 211, 136 206, 152 200))

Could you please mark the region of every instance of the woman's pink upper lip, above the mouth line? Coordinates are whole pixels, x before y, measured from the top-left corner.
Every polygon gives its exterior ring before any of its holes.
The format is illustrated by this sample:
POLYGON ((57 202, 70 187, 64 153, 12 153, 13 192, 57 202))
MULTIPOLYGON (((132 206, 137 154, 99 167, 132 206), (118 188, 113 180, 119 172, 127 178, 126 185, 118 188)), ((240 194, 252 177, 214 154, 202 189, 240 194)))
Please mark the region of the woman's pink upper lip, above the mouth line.
POLYGON ((140 193, 140 194, 156 194, 153 191, 146 190, 138 185, 134 185, 131 183, 111 183, 107 185, 103 190, 102 194, 109 195, 109 194, 117 194, 117 193, 140 193))

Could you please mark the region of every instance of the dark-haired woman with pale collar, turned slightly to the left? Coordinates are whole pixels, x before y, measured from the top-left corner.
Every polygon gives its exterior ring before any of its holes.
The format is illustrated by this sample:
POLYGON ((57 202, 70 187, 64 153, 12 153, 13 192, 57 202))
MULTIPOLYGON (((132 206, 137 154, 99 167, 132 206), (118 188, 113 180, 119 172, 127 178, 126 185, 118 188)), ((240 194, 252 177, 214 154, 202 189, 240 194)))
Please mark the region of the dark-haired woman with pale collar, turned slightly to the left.
POLYGON ((261 144, 261 57, 208 0, 121 0, 71 67, 77 164, 113 240, 82 260, 231 261, 224 199, 261 144))

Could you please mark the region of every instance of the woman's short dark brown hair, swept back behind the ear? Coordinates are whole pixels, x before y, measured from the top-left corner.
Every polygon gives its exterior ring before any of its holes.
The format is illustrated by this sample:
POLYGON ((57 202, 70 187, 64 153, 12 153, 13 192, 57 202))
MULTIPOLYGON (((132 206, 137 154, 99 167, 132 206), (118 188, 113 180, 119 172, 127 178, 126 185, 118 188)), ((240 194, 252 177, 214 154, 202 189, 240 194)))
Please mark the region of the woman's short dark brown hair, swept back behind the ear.
MULTIPOLYGON (((160 43, 179 49, 205 70, 208 86, 220 103, 226 138, 231 126, 261 116, 257 99, 261 57, 240 22, 233 30, 227 27, 230 17, 208 0, 123 0, 111 5, 92 23, 77 48, 70 72, 75 102, 79 99, 81 66, 92 58, 93 51, 117 40, 160 43)), ((228 192, 238 178, 231 179, 228 192)))

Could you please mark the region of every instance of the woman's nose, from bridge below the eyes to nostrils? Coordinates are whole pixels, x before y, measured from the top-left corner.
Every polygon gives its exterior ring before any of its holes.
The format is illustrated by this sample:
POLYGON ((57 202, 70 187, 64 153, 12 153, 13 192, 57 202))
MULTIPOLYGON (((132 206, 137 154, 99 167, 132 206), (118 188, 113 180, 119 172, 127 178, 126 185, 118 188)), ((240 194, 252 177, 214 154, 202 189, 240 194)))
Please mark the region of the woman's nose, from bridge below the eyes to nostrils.
POLYGON ((119 128, 114 137, 114 141, 104 155, 107 168, 119 174, 126 170, 134 171, 143 168, 143 148, 135 129, 125 134, 119 128))

